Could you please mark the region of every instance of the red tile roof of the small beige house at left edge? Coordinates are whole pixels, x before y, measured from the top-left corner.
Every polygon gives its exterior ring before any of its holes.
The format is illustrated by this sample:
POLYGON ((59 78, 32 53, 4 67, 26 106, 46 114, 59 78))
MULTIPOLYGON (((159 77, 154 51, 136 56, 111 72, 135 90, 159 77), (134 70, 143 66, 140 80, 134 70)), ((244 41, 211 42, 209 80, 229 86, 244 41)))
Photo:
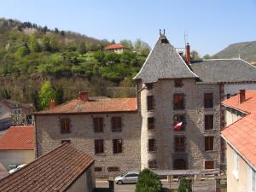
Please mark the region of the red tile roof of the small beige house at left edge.
POLYGON ((33 150, 34 147, 34 126, 11 126, 0 137, 0 150, 33 150))

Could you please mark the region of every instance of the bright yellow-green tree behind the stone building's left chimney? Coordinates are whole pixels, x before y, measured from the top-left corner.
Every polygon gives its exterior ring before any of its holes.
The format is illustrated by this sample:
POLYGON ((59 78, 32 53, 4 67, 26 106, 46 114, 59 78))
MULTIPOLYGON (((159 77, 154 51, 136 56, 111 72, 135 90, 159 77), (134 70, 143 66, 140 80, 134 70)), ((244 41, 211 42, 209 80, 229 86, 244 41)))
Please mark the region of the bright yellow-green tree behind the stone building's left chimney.
POLYGON ((55 90, 52 88, 49 81, 45 81, 41 85, 39 90, 38 99, 39 99, 39 108, 46 109, 49 108, 50 100, 55 98, 55 90))

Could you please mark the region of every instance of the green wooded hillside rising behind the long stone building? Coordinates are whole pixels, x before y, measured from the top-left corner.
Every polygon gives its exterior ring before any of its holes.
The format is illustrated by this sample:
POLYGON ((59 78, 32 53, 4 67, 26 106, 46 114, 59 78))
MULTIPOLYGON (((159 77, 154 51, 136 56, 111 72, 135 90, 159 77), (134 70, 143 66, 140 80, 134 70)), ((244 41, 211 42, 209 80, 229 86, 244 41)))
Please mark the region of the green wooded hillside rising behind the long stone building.
POLYGON ((64 91, 64 101, 89 90, 90 96, 135 96, 132 77, 145 61, 149 46, 140 39, 123 54, 104 52, 108 40, 77 32, 48 29, 30 22, 0 19, 0 100, 36 102, 38 90, 50 81, 64 91))

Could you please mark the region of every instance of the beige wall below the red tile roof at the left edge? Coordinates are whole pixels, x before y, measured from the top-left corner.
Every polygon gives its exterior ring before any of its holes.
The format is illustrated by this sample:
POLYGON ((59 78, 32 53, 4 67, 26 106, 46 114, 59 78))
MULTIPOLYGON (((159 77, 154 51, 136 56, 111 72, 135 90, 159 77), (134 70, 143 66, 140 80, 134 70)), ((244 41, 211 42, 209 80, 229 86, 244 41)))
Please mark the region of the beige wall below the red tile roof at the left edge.
POLYGON ((9 165, 28 164, 35 160, 34 150, 0 150, 0 172, 9 171, 9 165))

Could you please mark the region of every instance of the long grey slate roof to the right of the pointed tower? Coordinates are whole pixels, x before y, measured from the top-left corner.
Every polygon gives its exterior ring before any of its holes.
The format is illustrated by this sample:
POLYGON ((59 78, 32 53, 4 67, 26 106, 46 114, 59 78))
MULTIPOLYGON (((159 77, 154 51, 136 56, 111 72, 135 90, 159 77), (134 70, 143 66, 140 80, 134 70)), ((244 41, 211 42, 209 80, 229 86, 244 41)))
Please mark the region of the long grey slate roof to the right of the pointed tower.
POLYGON ((241 59, 196 61, 191 68, 205 83, 256 81, 256 67, 241 59))

